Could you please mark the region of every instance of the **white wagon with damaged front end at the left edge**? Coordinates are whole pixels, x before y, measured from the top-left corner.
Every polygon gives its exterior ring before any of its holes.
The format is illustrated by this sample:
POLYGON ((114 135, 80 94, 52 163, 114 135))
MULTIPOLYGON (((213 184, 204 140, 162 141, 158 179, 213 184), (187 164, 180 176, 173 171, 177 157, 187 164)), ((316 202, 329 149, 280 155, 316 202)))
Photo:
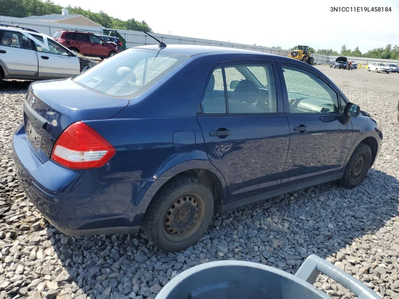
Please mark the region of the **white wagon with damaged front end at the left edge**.
POLYGON ((0 24, 0 82, 70 78, 95 64, 36 30, 0 24))

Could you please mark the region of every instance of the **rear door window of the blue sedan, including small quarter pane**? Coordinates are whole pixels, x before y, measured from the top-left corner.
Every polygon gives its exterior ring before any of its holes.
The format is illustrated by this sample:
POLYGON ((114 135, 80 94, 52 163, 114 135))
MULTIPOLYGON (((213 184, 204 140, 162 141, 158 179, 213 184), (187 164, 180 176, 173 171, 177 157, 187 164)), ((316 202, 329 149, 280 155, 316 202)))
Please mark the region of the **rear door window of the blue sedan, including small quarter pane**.
POLYGON ((202 100, 203 113, 277 112, 273 67, 269 64, 240 64, 213 71, 202 100), (226 101, 227 93, 227 101, 226 101))

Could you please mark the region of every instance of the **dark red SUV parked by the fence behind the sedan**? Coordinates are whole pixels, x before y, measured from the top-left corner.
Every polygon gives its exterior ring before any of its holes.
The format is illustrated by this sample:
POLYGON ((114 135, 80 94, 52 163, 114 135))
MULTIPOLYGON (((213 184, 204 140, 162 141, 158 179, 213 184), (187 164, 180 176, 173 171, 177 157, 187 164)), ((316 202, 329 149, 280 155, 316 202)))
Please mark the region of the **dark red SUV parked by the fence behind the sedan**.
POLYGON ((91 32, 59 30, 53 39, 75 53, 91 57, 109 57, 116 54, 117 47, 91 32))

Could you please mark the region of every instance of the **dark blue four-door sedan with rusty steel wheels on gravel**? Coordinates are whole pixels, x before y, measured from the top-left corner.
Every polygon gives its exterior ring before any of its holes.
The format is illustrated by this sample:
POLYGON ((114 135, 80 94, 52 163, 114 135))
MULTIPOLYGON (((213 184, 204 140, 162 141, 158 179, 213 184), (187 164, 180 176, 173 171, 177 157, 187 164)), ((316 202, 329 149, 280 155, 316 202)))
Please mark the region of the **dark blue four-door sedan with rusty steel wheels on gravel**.
POLYGON ((316 68, 194 45, 127 49, 30 85, 12 146, 20 183, 67 235, 145 232, 179 251, 214 213, 329 181, 358 186, 377 120, 316 68))

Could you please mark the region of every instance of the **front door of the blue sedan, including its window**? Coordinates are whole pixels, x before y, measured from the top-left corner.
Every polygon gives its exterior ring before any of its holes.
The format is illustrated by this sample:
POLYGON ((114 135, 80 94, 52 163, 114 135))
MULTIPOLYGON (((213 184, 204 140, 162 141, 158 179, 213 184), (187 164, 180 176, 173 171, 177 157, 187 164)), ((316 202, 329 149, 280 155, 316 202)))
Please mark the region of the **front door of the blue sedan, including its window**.
POLYGON ((340 173, 352 140, 338 92, 320 75, 279 63, 290 146, 281 183, 291 185, 340 173))

